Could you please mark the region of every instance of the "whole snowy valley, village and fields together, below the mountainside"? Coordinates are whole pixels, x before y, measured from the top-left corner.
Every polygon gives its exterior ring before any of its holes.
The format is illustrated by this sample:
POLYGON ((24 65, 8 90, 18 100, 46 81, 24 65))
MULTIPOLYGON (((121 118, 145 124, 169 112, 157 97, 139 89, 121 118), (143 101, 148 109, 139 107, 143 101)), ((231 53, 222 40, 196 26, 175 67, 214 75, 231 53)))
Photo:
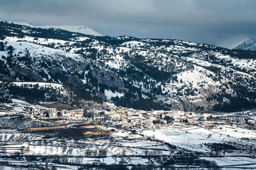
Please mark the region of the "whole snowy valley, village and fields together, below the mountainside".
POLYGON ((185 160, 186 165, 195 163, 195 167, 202 162, 204 166, 221 167, 220 161, 227 161, 222 167, 229 167, 241 164, 233 160, 232 155, 237 155, 235 158, 243 157, 248 167, 256 164, 255 110, 195 113, 135 110, 112 103, 87 109, 58 106, 30 105, 2 114, 0 125, 10 129, 0 132, 0 161, 17 161, 28 167, 26 161, 36 164, 47 157, 40 166, 51 162, 51 167, 77 169, 79 162, 84 168, 147 167, 163 165, 178 155, 176 164, 181 166, 185 160), (193 159, 185 159, 186 154, 193 159))

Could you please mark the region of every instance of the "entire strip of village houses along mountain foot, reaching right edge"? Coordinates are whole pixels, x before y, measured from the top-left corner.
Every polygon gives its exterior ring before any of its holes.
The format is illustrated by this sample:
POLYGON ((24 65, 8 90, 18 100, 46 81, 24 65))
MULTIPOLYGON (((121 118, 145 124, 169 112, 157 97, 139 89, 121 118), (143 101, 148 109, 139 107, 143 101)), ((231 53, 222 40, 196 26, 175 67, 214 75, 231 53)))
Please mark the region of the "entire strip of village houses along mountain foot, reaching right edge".
MULTIPOLYGON (((23 115, 32 119, 54 119, 65 118, 71 120, 84 120, 87 124, 97 125, 97 128, 115 127, 116 129, 161 129, 173 122, 180 122, 188 125, 196 125, 211 129, 216 125, 234 125, 246 129, 255 129, 255 118, 246 116, 244 119, 234 117, 234 115, 221 115, 221 113, 195 113, 182 110, 134 110, 115 106, 112 103, 104 103, 106 109, 75 109, 58 110, 57 108, 28 108, 27 111, 12 113, 23 115)), ((238 113, 237 113, 238 114, 238 113)), ((239 112, 239 114, 243 114, 239 112)), ((249 114, 250 115, 250 114, 249 114)))

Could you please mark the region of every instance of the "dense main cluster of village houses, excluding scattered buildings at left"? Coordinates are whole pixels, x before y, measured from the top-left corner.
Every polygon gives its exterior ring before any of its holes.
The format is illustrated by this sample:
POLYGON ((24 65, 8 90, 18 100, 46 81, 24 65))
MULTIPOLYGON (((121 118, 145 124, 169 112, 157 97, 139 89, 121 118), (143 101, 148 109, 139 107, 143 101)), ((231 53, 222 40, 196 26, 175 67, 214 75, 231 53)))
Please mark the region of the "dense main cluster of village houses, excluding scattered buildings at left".
POLYGON ((92 110, 93 121, 97 124, 109 125, 119 128, 143 127, 146 129, 157 129, 169 122, 186 122, 194 125, 204 125, 211 127, 214 124, 225 124, 225 121, 207 120, 209 115, 180 110, 133 110, 128 108, 116 107, 114 110, 102 111, 92 110))

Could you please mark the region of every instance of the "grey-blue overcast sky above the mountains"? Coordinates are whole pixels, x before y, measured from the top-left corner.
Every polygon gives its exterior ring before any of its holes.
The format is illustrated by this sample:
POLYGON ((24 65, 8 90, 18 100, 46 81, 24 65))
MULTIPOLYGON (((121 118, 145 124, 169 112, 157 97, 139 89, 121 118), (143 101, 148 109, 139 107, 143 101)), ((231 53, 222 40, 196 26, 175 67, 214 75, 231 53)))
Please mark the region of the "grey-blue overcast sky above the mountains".
POLYGON ((255 0, 0 0, 0 20, 230 47, 256 37, 255 0))

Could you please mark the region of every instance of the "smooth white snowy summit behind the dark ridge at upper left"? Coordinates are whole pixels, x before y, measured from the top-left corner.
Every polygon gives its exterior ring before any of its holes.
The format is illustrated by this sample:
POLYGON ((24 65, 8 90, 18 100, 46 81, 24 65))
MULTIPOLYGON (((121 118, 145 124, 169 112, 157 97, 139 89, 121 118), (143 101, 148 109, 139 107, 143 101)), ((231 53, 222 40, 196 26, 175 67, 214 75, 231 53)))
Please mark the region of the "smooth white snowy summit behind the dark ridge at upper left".
POLYGON ((90 27, 81 26, 81 25, 37 25, 37 26, 34 26, 34 25, 28 24, 26 22, 12 22, 12 23, 17 24, 17 25, 25 25, 28 27, 36 27, 36 28, 42 28, 42 29, 50 29, 50 28, 63 29, 63 30, 70 31, 70 32, 79 32, 81 34, 87 34, 87 35, 92 35, 92 36, 102 36, 102 34, 94 31, 90 27))

